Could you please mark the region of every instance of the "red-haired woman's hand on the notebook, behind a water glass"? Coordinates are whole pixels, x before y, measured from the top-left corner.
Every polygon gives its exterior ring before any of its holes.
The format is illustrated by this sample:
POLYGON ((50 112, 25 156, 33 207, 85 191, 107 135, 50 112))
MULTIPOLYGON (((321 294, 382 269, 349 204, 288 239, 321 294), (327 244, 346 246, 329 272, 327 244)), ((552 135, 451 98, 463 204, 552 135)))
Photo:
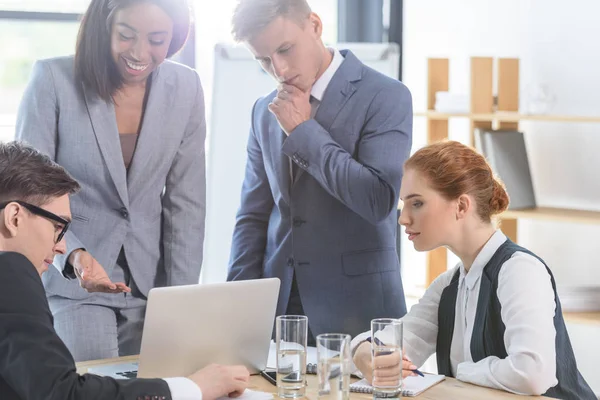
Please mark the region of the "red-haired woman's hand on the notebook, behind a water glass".
MULTIPOLYGON (((370 384, 379 386, 394 386, 398 384, 400 377, 400 353, 395 351, 385 356, 377 356, 373 361, 371 343, 363 342, 354 353, 354 365, 362 372, 370 384), (375 373, 373 374, 373 371, 375 373)), ((402 358, 402 377, 416 376, 413 372, 417 369, 407 358, 402 358)))

